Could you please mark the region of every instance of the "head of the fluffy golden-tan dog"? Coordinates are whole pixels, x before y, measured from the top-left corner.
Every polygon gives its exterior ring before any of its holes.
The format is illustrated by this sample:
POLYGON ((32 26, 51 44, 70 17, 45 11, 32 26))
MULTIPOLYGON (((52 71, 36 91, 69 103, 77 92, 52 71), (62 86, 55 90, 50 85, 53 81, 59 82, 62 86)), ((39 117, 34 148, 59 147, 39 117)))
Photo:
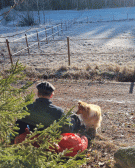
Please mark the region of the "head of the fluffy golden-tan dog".
POLYGON ((78 111, 76 114, 81 114, 83 118, 87 118, 90 113, 90 107, 87 103, 79 101, 78 102, 78 111))

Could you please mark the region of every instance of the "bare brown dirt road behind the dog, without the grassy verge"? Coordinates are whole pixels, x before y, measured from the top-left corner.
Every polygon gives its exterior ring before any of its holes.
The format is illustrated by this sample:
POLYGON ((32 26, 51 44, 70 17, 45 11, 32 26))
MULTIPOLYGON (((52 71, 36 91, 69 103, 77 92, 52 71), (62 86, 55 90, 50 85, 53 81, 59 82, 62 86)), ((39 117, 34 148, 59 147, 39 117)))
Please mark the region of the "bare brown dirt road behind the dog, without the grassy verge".
POLYGON ((90 81, 50 80, 56 87, 52 102, 65 111, 78 100, 98 104, 102 109, 102 126, 98 133, 116 144, 135 144, 135 91, 129 94, 130 83, 94 83, 90 81))

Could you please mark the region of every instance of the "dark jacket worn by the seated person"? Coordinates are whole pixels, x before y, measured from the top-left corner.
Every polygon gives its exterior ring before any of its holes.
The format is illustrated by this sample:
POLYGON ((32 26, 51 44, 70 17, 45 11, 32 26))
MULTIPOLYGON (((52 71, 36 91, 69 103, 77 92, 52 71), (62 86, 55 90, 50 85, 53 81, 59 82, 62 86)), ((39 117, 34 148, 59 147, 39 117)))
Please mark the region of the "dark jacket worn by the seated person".
POLYGON ((16 122, 20 127, 19 134, 25 131, 27 125, 29 125, 31 131, 39 123, 43 124, 44 128, 47 128, 54 120, 58 121, 64 115, 64 111, 60 107, 53 105, 49 99, 45 98, 36 99, 27 108, 30 115, 16 122))

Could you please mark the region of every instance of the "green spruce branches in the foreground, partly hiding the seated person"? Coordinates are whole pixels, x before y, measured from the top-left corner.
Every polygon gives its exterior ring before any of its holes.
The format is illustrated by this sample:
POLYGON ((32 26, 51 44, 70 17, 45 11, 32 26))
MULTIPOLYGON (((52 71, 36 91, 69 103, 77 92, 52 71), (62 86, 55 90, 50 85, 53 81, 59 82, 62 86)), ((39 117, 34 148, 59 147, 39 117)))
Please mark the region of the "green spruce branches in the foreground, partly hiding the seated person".
POLYGON ((86 163, 85 152, 74 157, 65 157, 70 152, 65 150, 57 153, 56 146, 61 138, 61 127, 69 124, 68 116, 72 109, 58 122, 54 121, 50 127, 40 131, 43 125, 37 125, 34 132, 27 135, 25 141, 12 144, 19 129, 15 125, 16 119, 29 115, 28 104, 33 102, 34 94, 27 94, 32 85, 25 81, 23 70, 25 67, 18 62, 11 66, 6 75, 0 76, 0 167, 1 168, 74 168, 86 163), (38 137, 34 137, 39 134, 38 137), (40 144, 34 147, 32 144, 40 144))

